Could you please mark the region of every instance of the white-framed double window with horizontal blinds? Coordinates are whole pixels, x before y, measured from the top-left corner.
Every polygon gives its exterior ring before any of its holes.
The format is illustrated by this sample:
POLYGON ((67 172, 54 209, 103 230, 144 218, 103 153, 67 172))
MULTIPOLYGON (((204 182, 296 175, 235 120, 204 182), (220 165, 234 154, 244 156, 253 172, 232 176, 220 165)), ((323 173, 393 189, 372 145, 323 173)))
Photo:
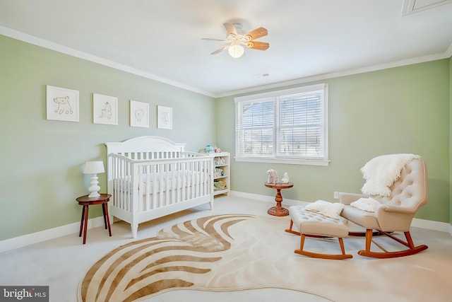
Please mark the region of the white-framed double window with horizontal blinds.
POLYGON ((328 165, 328 85, 235 98, 237 161, 328 165))

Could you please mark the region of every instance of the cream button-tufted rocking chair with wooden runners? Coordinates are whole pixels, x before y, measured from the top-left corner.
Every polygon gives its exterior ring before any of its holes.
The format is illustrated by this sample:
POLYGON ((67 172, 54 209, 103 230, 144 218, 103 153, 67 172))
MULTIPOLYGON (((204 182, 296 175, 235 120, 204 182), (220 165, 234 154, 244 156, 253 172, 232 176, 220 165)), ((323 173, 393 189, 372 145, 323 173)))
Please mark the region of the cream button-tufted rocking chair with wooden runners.
MULTIPOLYGON (((366 229, 365 250, 359 250, 358 255, 376 258, 402 257, 428 248, 427 245, 415 246, 410 235, 413 217, 417 210, 427 203, 427 167, 424 161, 419 158, 409 161, 400 171, 400 177, 389 188, 391 194, 388 197, 339 193, 340 202, 345 204, 340 216, 366 229), (381 203, 374 212, 350 206, 360 198, 369 197, 381 203), (405 245, 408 249, 396 252, 385 250, 372 240, 374 230, 405 245), (396 237, 393 232, 403 232, 405 240, 396 237), (371 243, 377 245, 383 252, 371 251, 371 243)), ((349 235, 357 236, 358 234, 350 232, 349 235)))

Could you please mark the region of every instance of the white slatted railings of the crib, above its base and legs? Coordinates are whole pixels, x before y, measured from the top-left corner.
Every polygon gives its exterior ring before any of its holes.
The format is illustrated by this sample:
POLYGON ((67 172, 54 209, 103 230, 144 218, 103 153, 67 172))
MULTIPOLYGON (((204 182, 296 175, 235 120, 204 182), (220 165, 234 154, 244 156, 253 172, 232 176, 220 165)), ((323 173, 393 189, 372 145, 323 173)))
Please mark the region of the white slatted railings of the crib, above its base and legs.
POLYGON ((135 152, 109 154, 107 160, 110 204, 123 211, 137 214, 213 196, 210 156, 191 152, 135 152))

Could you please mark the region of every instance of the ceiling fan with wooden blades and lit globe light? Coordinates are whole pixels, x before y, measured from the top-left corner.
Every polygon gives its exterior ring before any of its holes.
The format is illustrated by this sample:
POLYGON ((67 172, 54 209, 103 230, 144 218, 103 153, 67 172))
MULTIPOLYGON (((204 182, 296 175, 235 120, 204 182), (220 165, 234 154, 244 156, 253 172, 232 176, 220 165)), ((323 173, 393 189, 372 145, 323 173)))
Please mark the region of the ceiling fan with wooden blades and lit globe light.
POLYGON ((240 35, 237 33, 237 28, 242 28, 241 24, 223 23, 223 25, 225 25, 227 31, 227 37, 225 40, 211 39, 208 37, 202 38, 203 40, 208 41, 219 41, 229 43, 229 45, 221 47, 218 50, 215 50, 215 52, 212 52, 211 54, 218 54, 223 50, 228 50, 231 57, 238 58, 242 57, 242 54, 244 53, 244 48, 242 47, 242 45, 245 45, 248 48, 252 48, 253 50, 268 50, 268 47, 270 47, 270 44, 268 44, 267 42, 255 41, 256 39, 260 37, 265 37, 267 35, 268 31, 266 28, 263 27, 256 28, 255 30, 251 30, 249 33, 240 35))

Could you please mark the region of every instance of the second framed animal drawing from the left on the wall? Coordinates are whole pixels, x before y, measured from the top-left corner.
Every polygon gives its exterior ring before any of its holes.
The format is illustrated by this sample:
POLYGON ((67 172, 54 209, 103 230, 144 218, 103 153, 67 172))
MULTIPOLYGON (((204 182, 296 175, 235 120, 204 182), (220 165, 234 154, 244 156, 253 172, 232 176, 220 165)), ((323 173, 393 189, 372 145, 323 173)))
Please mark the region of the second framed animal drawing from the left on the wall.
POLYGON ((93 122, 118 124, 118 98, 93 93, 93 122))

